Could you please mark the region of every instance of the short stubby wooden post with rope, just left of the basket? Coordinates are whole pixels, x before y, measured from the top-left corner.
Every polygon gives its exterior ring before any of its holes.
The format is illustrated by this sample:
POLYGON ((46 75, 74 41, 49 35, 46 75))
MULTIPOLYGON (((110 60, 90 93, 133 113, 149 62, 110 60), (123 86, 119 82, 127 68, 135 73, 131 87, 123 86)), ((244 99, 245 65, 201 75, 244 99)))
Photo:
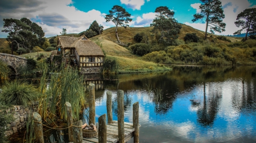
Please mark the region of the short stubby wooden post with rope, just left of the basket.
POLYGON ((77 127, 73 128, 73 143, 82 143, 82 120, 75 122, 73 125, 77 127))

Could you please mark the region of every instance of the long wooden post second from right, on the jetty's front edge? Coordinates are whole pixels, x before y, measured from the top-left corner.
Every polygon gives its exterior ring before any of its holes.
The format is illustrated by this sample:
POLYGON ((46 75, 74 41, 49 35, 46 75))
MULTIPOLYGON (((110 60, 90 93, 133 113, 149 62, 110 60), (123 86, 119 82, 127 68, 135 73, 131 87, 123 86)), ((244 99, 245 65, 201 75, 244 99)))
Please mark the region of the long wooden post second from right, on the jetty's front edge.
POLYGON ((117 91, 117 109, 118 109, 118 138, 119 138, 119 143, 124 143, 125 142, 125 112, 123 109, 123 90, 118 90, 117 91))

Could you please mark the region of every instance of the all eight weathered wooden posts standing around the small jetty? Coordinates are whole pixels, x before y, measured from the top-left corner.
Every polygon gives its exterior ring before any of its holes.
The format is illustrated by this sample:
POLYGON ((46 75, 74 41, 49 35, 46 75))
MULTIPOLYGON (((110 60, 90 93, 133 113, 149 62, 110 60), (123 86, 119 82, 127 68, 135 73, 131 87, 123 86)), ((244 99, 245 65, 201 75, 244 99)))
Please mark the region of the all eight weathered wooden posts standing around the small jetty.
MULTIPOLYGON (((124 129, 124 108, 123 108, 123 90, 117 91, 118 100, 118 139, 119 143, 125 142, 124 129)), ((113 123, 112 115, 112 92, 107 92, 107 112, 108 123, 113 123)), ((82 143, 82 121, 73 123, 72 107, 69 102, 65 103, 67 109, 68 135, 69 142, 82 143)), ((89 124, 95 124, 95 85, 89 84, 89 124)), ((33 113, 35 142, 44 143, 42 118, 37 113, 33 113)), ((139 102, 133 104, 133 128, 134 142, 139 142, 139 102)), ((106 114, 98 118, 98 142, 106 142, 106 114)))

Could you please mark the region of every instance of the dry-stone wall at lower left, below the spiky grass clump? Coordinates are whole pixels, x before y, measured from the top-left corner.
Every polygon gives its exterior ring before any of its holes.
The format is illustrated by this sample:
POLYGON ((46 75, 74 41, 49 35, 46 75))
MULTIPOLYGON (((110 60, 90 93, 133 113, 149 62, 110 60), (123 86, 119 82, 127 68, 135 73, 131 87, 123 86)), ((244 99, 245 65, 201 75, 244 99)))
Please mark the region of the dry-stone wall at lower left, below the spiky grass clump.
POLYGON ((13 114, 14 122, 8 124, 9 130, 5 132, 7 136, 13 135, 22 128, 26 128, 26 122, 28 115, 38 110, 38 102, 32 102, 30 107, 13 106, 11 109, 7 109, 6 113, 13 114))

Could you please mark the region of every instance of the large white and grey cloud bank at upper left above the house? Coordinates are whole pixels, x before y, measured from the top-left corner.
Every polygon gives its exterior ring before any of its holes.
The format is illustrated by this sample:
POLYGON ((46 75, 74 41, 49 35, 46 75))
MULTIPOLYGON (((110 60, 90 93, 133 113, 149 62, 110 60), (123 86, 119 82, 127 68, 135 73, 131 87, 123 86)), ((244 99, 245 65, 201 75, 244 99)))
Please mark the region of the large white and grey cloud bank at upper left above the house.
MULTIPOLYGON (((56 36, 67 29, 67 33, 80 33, 89 28, 96 20, 98 24, 109 28, 111 24, 105 22, 105 14, 97 10, 83 12, 72 6, 72 0, 3 0, 0 2, 0 19, 3 18, 28 18, 36 21, 46 33, 46 37, 56 36), (8 2, 3 2, 8 1, 8 2), (31 2, 30 2, 31 1, 31 2), (10 5, 9 5, 10 4, 10 5)), ((3 28, 0 21, 0 30, 3 28)), ((7 33, 0 32, 0 37, 6 37, 7 33)))

